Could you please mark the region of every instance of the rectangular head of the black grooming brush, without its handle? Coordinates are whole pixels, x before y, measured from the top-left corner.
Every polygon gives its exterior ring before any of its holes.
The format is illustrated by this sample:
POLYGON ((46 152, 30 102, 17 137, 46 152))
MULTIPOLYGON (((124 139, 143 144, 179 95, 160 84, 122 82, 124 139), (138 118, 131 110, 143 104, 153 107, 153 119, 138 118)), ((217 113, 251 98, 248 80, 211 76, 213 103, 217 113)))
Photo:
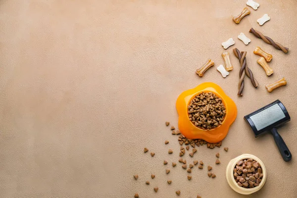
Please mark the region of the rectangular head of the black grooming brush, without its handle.
POLYGON ((276 100, 245 116, 255 137, 290 121, 290 115, 280 100, 276 100))

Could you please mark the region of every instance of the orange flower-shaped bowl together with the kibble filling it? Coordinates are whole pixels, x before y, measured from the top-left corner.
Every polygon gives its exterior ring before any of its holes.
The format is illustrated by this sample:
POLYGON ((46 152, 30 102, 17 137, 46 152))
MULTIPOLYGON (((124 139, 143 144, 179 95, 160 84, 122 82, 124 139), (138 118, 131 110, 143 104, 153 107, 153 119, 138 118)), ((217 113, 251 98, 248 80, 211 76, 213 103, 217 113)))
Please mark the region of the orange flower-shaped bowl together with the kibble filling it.
POLYGON ((176 101, 180 132, 189 139, 222 141, 237 116, 232 99, 214 83, 202 83, 183 92, 176 101))

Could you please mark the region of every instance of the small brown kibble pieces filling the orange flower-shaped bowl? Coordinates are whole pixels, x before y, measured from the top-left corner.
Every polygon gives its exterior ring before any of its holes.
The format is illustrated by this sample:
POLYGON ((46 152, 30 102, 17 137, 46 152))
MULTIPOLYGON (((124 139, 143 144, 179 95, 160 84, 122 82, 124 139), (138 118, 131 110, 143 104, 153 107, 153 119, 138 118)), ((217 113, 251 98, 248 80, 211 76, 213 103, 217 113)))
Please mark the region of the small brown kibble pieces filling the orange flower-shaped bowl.
MULTIPOLYGON (((214 129, 225 119, 226 107, 222 99, 212 92, 202 92, 191 100, 188 105, 188 115, 196 127, 204 130, 214 129)), ((211 145, 213 148, 213 144, 211 145)))

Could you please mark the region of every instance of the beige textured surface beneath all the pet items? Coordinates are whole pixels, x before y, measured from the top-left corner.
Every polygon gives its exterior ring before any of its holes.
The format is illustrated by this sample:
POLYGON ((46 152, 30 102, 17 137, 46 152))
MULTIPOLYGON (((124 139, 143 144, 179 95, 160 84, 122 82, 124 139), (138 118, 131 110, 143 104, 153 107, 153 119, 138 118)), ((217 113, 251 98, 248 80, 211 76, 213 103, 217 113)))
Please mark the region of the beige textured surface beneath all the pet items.
POLYGON ((250 8, 236 25, 232 17, 246 0, 0 0, 0 197, 174 198, 179 189, 182 198, 296 198, 297 1, 257 2, 258 10, 250 8), (265 13, 271 20, 260 27, 256 19, 265 13), (250 27, 290 52, 256 39, 250 27), (237 39, 241 32, 248 46, 237 39), (195 74, 207 58, 223 64, 221 43, 230 37, 247 50, 260 84, 254 89, 246 78, 243 98, 233 48, 235 69, 226 79, 214 67, 203 78, 195 74), (273 54, 271 77, 256 63, 256 46, 273 54), (264 85, 282 76, 288 85, 268 93, 264 85), (223 141, 229 151, 198 148, 194 158, 212 164, 215 179, 195 167, 188 181, 179 163, 166 175, 163 160, 177 162, 179 144, 164 122, 177 126, 178 95, 206 81, 219 84, 239 109, 223 141), (290 162, 271 135, 255 139, 243 119, 275 99, 292 118, 279 129, 290 162), (264 188, 251 196, 235 193, 225 179, 227 163, 242 153, 258 156, 268 171, 264 188))

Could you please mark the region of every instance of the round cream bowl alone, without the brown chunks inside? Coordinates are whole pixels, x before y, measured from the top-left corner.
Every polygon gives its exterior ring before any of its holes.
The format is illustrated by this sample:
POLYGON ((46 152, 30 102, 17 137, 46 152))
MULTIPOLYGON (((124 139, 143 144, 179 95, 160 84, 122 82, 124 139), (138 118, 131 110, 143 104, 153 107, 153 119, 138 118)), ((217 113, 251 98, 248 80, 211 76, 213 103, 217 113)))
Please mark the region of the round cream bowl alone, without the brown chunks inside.
POLYGON ((265 168, 263 162, 258 157, 254 156, 252 154, 242 154, 234 159, 231 159, 227 165, 227 168, 226 168, 226 179, 227 179, 229 186, 235 192, 242 194, 242 195, 250 195, 252 193, 259 191, 264 186, 264 184, 266 182, 266 178, 267 178, 267 172, 266 172, 266 168, 265 168), (262 178, 262 181, 260 182, 259 186, 256 186, 256 187, 250 188, 250 189, 246 189, 246 188, 243 188, 243 187, 240 187, 237 185, 237 183, 235 182, 234 176, 233 176, 233 174, 234 174, 233 171, 234 171, 234 167, 236 166, 236 163, 238 161, 243 160, 243 159, 250 159, 250 158, 255 160, 256 162, 258 162, 261 165, 263 178, 262 178))

